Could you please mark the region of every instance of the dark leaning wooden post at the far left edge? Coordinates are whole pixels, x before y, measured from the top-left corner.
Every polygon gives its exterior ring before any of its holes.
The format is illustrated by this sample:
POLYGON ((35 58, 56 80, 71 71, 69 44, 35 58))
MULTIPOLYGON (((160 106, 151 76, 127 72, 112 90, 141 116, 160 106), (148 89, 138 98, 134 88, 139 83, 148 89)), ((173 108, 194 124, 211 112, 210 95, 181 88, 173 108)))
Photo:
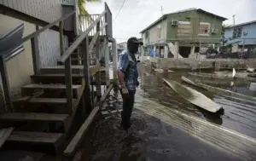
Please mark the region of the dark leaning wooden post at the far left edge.
POLYGON ((10 98, 10 89, 9 89, 9 78, 5 64, 5 57, 4 55, 0 55, 0 70, 1 70, 1 77, 3 83, 3 94, 4 100, 7 107, 7 112, 13 112, 13 103, 10 98))

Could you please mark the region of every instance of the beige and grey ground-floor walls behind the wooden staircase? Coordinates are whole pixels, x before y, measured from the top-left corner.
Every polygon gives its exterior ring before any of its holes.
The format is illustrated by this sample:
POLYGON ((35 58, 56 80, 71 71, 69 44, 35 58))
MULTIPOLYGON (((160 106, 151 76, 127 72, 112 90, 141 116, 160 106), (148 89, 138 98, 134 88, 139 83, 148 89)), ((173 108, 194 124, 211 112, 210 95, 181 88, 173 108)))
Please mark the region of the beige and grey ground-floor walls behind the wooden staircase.
MULTIPOLYGON (((35 25, 3 14, 0 14, 0 21, 4 22, 0 23, 0 35, 9 32, 21 23, 25 25, 23 37, 36 32, 35 25)), ((61 57, 59 33, 51 30, 42 32, 38 37, 38 43, 40 67, 57 65, 57 60, 61 57)), ((26 41, 23 45, 25 51, 7 61, 11 95, 19 95, 20 86, 30 83, 30 75, 33 74, 31 42, 26 41)), ((67 48, 67 37, 65 37, 65 47, 67 48)))

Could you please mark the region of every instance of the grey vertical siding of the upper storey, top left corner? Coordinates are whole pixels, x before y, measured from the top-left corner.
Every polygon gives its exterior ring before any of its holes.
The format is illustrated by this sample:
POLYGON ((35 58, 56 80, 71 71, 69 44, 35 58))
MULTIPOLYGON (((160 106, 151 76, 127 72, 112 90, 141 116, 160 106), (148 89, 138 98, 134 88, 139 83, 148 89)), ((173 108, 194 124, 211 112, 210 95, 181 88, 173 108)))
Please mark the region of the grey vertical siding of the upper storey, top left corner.
POLYGON ((0 4, 49 23, 62 16, 61 0, 0 0, 0 4))

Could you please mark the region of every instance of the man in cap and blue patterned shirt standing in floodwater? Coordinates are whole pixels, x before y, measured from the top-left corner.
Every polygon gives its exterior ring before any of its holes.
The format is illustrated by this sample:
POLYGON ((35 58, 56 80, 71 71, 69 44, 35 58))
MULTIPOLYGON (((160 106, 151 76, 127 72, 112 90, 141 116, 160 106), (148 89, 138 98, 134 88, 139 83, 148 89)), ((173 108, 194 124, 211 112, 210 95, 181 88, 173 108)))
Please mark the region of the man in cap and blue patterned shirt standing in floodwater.
POLYGON ((138 41, 137 37, 131 37, 127 41, 127 49, 119 55, 119 89, 123 98, 123 111, 121 112, 122 122, 121 125, 124 129, 131 127, 131 112, 134 105, 134 95, 136 88, 139 85, 137 80, 137 60, 136 54, 139 45, 143 42, 138 41))

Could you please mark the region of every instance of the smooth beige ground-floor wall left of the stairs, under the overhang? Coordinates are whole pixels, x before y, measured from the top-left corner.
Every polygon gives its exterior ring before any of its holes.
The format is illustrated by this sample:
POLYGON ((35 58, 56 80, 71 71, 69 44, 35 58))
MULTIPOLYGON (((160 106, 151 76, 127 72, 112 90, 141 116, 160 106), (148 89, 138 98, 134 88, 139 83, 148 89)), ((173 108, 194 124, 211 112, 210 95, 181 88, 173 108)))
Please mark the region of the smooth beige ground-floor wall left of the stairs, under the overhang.
MULTIPOLYGON (((0 14, 0 21, 4 22, 0 23, 0 34, 9 32, 11 29, 19 26, 21 23, 24 23, 25 25, 24 37, 36 31, 35 25, 5 16, 3 14, 0 14)), ((25 83, 30 83, 30 75, 33 73, 30 41, 24 43, 24 48, 25 51, 23 53, 15 56, 6 63, 11 95, 19 94, 20 86, 25 83)))

